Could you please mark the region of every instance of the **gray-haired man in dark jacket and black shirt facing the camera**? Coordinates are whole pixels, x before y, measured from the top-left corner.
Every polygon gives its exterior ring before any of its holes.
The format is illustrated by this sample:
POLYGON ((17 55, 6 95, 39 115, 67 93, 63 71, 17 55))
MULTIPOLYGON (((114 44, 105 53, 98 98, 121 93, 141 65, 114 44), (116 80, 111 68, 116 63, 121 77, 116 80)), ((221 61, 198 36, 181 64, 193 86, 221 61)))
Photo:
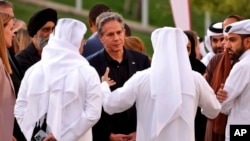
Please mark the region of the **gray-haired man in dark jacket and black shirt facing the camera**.
MULTIPOLYGON (((104 49, 87 59, 103 76, 109 67, 109 77, 116 82, 111 90, 121 87, 136 71, 150 67, 146 55, 124 48, 125 29, 123 17, 118 13, 104 12, 97 17, 97 32, 104 49)), ((135 140, 136 108, 108 115, 102 112, 101 119, 93 127, 93 141, 135 140)))

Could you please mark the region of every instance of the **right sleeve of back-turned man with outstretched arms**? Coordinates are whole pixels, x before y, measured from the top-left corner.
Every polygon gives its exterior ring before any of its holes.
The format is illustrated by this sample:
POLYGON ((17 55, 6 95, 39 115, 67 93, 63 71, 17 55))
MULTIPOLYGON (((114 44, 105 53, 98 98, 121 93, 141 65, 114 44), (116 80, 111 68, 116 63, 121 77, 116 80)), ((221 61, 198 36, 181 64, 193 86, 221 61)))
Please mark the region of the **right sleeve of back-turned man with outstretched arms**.
POLYGON ((202 114, 210 119, 215 118, 221 110, 221 104, 217 100, 213 89, 204 77, 198 73, 195 76, 195 85, 199 96, 198 105, 202 109, 202 114))

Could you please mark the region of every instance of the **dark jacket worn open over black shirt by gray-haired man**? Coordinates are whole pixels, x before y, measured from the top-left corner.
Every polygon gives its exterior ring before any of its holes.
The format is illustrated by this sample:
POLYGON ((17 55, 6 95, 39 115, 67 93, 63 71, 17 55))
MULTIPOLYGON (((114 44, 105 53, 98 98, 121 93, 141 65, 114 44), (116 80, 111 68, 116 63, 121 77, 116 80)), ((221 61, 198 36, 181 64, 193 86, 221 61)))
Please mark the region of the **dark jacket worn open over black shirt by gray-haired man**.
MULTIPOLYGON (((150 67, 150 61, 146 55, 127 49, 124 49, 124 51, 128 63, 127 65, 129 77, 131 77, 136 71, 144 70, 150 67)), ((108 66, 105 50, 102 49, 96 52, 95 54, 89 56, 87 59, 90 65, 92 65, 97 70, 99 76, 101 77, 104 74, 106 67, 108 66)), ((108 115, 102 110, 101 119, 92 129, 93 141, 109 141, 109 136, 111 133, 129 134, 135 132, 135 105, 124 112, 116 113, 114 115, 108 115), (119 127, 119 129, 117 127, 119 127)))

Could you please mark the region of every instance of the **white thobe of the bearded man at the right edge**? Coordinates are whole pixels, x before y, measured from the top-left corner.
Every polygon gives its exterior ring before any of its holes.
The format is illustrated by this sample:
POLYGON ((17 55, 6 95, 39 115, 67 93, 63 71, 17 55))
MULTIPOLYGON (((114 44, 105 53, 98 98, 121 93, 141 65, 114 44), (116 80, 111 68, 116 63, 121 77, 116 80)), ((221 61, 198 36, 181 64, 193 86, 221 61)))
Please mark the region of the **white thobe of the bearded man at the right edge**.
POLYGON ((230 140, 230 125, 250 124, 250 50, 239 58, 224 85, 228 98, 222 103, 221 112, 228 114, 226 141, 230 140))

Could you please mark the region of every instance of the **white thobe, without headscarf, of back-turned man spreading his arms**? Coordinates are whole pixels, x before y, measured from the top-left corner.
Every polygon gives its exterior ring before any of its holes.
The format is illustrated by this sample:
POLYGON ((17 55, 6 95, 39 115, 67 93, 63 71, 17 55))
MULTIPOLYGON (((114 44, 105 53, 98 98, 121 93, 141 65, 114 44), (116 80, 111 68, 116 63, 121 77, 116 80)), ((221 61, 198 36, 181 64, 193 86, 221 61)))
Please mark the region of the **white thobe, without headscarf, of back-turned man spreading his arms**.
MULTIPOLYGON (((199 105, 203 113, 208 118, 214 118, 220 112, 221 105, 215 97, 215 94, 205 79, 198 73, 193 72, 196 95, 192 97, 183 96, 183 105, 185 101, 192 100, 196 112, 199 105)), ((174 82, 173 82, 174 83, 174 82)), ((154 99, 150 94, 150 69, 134 74, 123 87, 116 89, 111 93, 108 84, 102 83, 103 108, 109 114, 122 112, 131 107, 136 102, 137 109, 137 141, 194 141, 194 126, 190 130, 186 121, 181 116, 173 119, 172 123, 166 126, 158 137, 150 137, 152 131, 152 113, 154 110, 154 99)), ((166 99, 168 102, 168 99, 166 99)), ((164 107, 162 107, 164 108, 164 107)), ((181 110, 181 114, 185 111, 181 110)), ((195 118, 196 113, 191 113, 195 118)))

